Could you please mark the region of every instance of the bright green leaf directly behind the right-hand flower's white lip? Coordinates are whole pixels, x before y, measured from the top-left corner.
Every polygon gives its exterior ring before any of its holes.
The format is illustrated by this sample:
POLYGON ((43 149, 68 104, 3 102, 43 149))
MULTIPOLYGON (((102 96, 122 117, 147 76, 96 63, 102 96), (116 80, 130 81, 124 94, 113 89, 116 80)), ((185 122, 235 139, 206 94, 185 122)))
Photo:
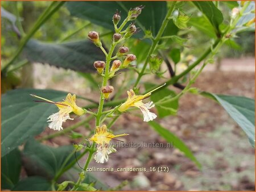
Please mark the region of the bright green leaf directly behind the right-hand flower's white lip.
MULTIPOLYGON (((146 90, 150 89, 151 87, 154 87, 154 84, 149 84, 146 83, 144 84, 146 90)), ((150 98, 151 100, 156 103, 158 102, 160 99, 163 99, 164 97, 168 97, 172 95, 172 97, 175 97, 175 92, 164 88, 160 91, 158 91, 157 93, 152 93, 150 98)), ((164 105, 155 105, 156 110, 158 110, 158 115, 160 118, 163 118, 164 116, 168 116, 168 115, 176 115, 177 113, 177 108, 179 107, 179 103, 178 100, 176 99, 175 101, 170 101, 167 103, 164 103, 164 105)))

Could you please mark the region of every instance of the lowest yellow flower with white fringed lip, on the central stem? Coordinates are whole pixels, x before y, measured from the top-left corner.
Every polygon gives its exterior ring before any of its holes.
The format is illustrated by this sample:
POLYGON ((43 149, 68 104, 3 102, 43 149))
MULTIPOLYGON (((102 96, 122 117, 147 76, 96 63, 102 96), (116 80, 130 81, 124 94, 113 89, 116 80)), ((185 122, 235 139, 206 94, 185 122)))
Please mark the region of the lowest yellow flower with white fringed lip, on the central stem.
POLYGON ((117 150, 114 147, 111 147, 109 142, 115 137, 129 135, 128 133, 123 133, 121 135, 114 135, 107 131, 106 125, 101 127, 96 127, 96 133, 89 139, 94 141, 97 144, 97 153, 94 156, 96 162, 104 163, 104 161, 109 160, 109 154, 116 152, 117 150))

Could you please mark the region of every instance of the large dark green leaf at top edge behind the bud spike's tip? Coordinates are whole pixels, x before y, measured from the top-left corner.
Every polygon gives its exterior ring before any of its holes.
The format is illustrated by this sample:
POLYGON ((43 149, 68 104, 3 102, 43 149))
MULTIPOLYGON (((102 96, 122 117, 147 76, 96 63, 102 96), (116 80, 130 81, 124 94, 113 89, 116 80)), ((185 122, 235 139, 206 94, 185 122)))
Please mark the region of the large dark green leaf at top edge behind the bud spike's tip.
MULTIPOLYGON (((88 19, 94 24, 114 30, 112 17, 116 10, 121 11, 121 21, 126 18, 127 12, 134 7, 145 6, 141 15, 136 19, 136 24, 142 30, 151 30, 155 36, 162 25, 167 12, 166 2, 146 1, 88 1, 88 2, 67 2, 66 6, 72 16, 88 19)), ((142 37, 142 36, 138 36, 142 37)))

